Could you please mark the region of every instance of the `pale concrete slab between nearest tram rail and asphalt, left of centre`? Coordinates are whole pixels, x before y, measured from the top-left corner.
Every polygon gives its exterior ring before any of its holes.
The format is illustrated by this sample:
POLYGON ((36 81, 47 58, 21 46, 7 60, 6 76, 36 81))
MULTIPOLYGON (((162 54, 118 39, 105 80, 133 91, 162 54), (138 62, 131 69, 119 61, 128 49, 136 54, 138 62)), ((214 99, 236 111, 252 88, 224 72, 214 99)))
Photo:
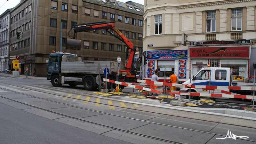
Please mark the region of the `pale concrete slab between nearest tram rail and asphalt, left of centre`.
POLYGON ((55 121, 60 122, 60 123, 64 123, 64 124, 68 124, 68 125, 72 125, 72 126, 80 128, 80 129, 90 131, 90 132, 95 132, 95 133, 98 133, 98 134, 101 134, 101 133, 108 132, 108 131, 112 130, 112 129, 104 127, 104 126, 79 121, 79 120, 72 119, 72 118, 69 118, 69 117, 59 118, 59 119, 56 119, 55 121))

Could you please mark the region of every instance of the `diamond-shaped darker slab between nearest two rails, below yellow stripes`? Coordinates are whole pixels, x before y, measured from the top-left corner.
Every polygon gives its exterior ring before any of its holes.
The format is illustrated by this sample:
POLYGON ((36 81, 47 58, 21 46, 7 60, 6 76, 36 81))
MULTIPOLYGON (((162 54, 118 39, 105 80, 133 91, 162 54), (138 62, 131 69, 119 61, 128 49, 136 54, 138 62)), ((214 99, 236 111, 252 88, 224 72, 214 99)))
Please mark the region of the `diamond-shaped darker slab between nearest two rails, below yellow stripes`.
POLYGON ((54 109, 49 109, 49 110, 63 114, 63 115, 76 117, 76 118, 102 115, 102 113, 99 113, 99 112, 94 112, 94 111, 81 109, 81 108, 75 108, 75 107, 54 108, 54 109))

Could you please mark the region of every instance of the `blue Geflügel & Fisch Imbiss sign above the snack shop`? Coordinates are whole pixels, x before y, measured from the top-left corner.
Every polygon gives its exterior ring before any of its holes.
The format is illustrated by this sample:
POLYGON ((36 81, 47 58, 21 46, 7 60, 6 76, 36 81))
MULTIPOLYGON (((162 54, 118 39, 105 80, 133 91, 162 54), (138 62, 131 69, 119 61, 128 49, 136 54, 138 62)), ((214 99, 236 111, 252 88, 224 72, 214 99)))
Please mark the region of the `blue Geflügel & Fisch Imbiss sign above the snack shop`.
POLYGON ((187 59, 188 50, 147 51, 148 60, 187 59))

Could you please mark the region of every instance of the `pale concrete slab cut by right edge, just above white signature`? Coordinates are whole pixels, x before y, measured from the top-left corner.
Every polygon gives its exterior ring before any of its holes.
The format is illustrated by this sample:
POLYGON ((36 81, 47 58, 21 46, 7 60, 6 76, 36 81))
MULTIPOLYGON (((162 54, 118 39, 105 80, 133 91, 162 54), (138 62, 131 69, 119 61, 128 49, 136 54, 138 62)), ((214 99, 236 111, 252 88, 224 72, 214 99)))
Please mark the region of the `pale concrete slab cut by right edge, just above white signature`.
POLYGON ((256 121, 240 119, 240 118, 224 117, 219 122, 224 124, 234 124, 234 125, 256 128, 256 121))

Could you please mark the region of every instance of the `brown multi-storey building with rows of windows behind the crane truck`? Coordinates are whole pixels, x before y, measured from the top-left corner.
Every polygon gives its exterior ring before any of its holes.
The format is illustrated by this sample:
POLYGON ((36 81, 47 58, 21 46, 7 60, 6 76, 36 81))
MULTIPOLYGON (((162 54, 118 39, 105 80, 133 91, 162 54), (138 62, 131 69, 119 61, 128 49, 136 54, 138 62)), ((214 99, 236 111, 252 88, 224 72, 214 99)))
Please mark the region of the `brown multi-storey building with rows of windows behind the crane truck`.
MULTIPOLYGON (((81 49, 66 49, 67 32, 75 25, 99 21, 115 21, 116 28, 142 52, 143 5, 132 1, 101 5, 102 0, 22 0, 11 10, 10 56, 20 56, 21 74, 28 67, 29 75, 36 68, 37 76, 45 76, 46 61, 53 51, 77 54, 82 60, 125 60, 124 43, 106 30, 80 32, 81 49), (62 29, 61 29, 62 25, 62 29), (22 39, 17 39, 22 31, 22 39), (62 36, 60 36, 62 31, 62 36)), ((9 62, 9 65, 12 65, 9 62)))

